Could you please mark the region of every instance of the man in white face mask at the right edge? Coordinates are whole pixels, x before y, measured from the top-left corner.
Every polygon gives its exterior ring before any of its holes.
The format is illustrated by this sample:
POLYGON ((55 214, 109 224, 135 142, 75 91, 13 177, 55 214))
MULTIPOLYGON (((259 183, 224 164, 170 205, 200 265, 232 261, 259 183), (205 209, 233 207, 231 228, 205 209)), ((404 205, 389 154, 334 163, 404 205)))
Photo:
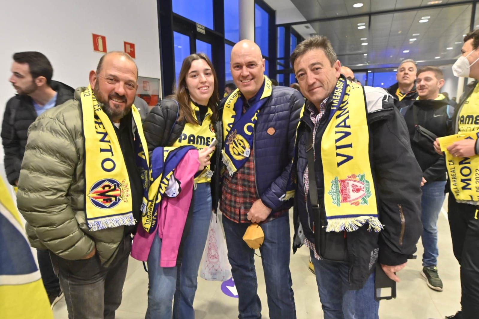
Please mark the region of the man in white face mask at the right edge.
POLYGON ((473 185, 479 183, 479 30, 464 37, 462 56, 452 70, 456 77, 472 77, 476 81, 468 86, 453 117, 453 133, 462 137, 457 142, 446 143, 436 139, 434 148, 445 150, 450 189, 448 219, 451 228, 454 255, 461 266, 462 311, 446 317, 473 319, 479 313, 479 196, 473 185), (465 138, 464 136, 467 136, 465 138))

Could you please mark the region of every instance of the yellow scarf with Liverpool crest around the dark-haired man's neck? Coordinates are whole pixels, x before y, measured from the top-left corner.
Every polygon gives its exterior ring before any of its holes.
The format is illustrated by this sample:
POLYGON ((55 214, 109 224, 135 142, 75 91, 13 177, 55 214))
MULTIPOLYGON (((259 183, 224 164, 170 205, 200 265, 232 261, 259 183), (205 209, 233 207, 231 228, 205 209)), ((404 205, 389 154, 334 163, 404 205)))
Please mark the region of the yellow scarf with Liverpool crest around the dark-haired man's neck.
POLYGON ((355 231, 365 223, 380 231, 369 160, 364 89, 339 78, 329 123, 321 139, 326 231, 355 231))

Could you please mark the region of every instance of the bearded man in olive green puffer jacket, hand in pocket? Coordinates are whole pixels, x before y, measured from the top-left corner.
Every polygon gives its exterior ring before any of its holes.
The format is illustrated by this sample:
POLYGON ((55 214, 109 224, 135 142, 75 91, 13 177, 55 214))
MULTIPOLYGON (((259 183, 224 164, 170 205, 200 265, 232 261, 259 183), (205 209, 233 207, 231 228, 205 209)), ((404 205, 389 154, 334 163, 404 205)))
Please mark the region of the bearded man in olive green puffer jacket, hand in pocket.
POLYGON ((103 55, 90 86, 29 130, 18 209, 32 246, 51 252, 68 318, 114 318, 121 303, 148 169, 137 76, 129 55, 103 55))

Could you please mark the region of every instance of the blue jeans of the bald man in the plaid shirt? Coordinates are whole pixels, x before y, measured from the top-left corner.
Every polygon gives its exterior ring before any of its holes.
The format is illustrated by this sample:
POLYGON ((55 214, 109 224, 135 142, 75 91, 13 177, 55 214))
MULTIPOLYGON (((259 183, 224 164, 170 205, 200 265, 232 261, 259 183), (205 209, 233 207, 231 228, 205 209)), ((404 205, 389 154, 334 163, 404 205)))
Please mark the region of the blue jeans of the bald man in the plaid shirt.
MULTIPOLYGON (((254 250, 243 241, 249 223, 236 223, 223 216, 228 247, 228 260, 238 291, 239 319, 261 318, 261 301, 254 268, 254 250)), ((271 319, 295 319, 293 282, 289 272, 289 217, 284 216, 261 224, 264 242, 260 247, 271 319)))

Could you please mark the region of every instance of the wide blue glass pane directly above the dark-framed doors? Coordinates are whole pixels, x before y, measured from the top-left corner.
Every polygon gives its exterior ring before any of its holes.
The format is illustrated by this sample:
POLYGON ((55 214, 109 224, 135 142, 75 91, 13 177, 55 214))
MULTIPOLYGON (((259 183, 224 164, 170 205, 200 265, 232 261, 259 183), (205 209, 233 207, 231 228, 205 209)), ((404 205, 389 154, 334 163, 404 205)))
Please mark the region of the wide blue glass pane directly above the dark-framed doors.
POLYGON ((213 0, 173 0, 173 12, 213 29, 213 0))

